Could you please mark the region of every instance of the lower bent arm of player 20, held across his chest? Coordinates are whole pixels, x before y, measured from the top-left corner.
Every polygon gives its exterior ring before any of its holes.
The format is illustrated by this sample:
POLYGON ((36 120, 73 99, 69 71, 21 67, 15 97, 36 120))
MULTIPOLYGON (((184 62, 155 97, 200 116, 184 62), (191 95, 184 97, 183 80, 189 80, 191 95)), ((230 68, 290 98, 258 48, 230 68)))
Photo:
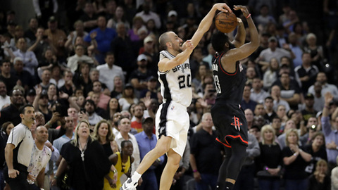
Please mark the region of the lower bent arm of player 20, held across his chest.
POLYGON ((189 56, 192 54, 194 50, 194 44, 190 40, 184 42, 185 49, 181 53, 178 53, 177 56, 173 59, 163 58, 160 62, 158 62, 158 70, 161 72, 165 72, 172 68, 175 68, 177 65, 181 65, 184 61, 187 61, 189 56))

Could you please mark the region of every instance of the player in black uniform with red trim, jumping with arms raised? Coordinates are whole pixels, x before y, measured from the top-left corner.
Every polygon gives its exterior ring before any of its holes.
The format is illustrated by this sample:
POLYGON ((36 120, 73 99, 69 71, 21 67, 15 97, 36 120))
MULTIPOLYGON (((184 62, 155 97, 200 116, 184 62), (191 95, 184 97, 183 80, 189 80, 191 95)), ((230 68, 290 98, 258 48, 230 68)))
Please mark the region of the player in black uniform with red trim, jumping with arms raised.
MULTIPOLYGON (((251 42, 232 44, 229 37, 222 32, 216 32, 211 38, 211 44, 216 51, 212 68, 217 91, 211 115, 218 129, 216 140, 224 145, 226 156, 218 174, 216 189, 221 190, 232 189, 246 158, 248 126, 240 107, 246 77, 239 60, 250 56, 259 46, 258 32, 248 9, 245 6, 234 6, 234 10, 241 10, 246 18, 251 42)), ((245 38, 245 33, 242 35, 239 38, 245 38)))

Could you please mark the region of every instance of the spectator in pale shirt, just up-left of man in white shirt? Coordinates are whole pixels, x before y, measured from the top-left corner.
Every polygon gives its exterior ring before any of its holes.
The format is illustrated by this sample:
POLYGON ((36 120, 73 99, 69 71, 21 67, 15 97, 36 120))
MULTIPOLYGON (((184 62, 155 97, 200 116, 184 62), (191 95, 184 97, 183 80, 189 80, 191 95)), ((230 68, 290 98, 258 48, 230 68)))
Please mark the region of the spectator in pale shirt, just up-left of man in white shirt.
POLYGON ((75 70, 77 70, 78 67, 78 63, 80 62, 86 62, 86 63, 90 63, 93 64, 94 60, 93 58, 84 55, 85 53, 85 49, 84 46, 78 44, 75 46, 75 55, 74 56, 70 56, 67 58, 67 67, 74 73, 75 70))

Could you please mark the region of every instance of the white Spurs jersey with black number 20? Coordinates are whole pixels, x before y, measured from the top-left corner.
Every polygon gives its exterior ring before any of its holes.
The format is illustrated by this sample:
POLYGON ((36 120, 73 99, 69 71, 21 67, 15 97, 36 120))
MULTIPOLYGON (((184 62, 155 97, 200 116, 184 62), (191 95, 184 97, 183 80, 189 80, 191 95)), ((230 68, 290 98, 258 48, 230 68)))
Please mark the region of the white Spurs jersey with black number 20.
MULTIPOLYGON (((163 50, 160 52, 160 60, 163 58, 173 59, 175 56, 163 50)), ((192 75, 189 58, 171 70, 158 71, 158 81, 161 83, 163 103, 175 101, 186 107, 192 103, 192 75)))

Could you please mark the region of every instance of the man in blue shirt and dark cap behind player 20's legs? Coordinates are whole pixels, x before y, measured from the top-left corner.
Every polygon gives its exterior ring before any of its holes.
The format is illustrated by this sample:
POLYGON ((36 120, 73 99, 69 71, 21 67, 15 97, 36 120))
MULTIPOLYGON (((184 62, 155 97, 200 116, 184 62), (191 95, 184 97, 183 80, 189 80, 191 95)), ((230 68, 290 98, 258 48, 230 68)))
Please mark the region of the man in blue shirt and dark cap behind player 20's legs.
MULTIPOLYGON (((142 121, 142 132, 135 134, 137 144, 139 145, 139 156, 141 160, 146 153, 155 148, 157 143, 156 135, 153 133, 154 119, 149 117, 142 121)), ((164 161, 164 155, 158 158, 151 167, 142 175, 143 182, 139 186, 139 190, 156 190, 158 189, 155 169, 164 161)))

